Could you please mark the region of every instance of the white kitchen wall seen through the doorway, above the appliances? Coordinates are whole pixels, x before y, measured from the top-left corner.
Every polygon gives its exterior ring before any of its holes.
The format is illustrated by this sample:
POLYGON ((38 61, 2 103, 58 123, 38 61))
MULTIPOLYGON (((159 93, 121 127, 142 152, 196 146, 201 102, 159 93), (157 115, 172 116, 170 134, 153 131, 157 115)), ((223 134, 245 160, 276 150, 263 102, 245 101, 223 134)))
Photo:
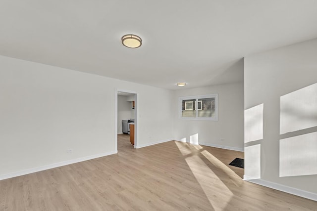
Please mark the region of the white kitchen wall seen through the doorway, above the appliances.
POLYGON ((122 120, 131 119, 132 103, 127 96, 118 95, 118 134, 122 134, 122 120))

